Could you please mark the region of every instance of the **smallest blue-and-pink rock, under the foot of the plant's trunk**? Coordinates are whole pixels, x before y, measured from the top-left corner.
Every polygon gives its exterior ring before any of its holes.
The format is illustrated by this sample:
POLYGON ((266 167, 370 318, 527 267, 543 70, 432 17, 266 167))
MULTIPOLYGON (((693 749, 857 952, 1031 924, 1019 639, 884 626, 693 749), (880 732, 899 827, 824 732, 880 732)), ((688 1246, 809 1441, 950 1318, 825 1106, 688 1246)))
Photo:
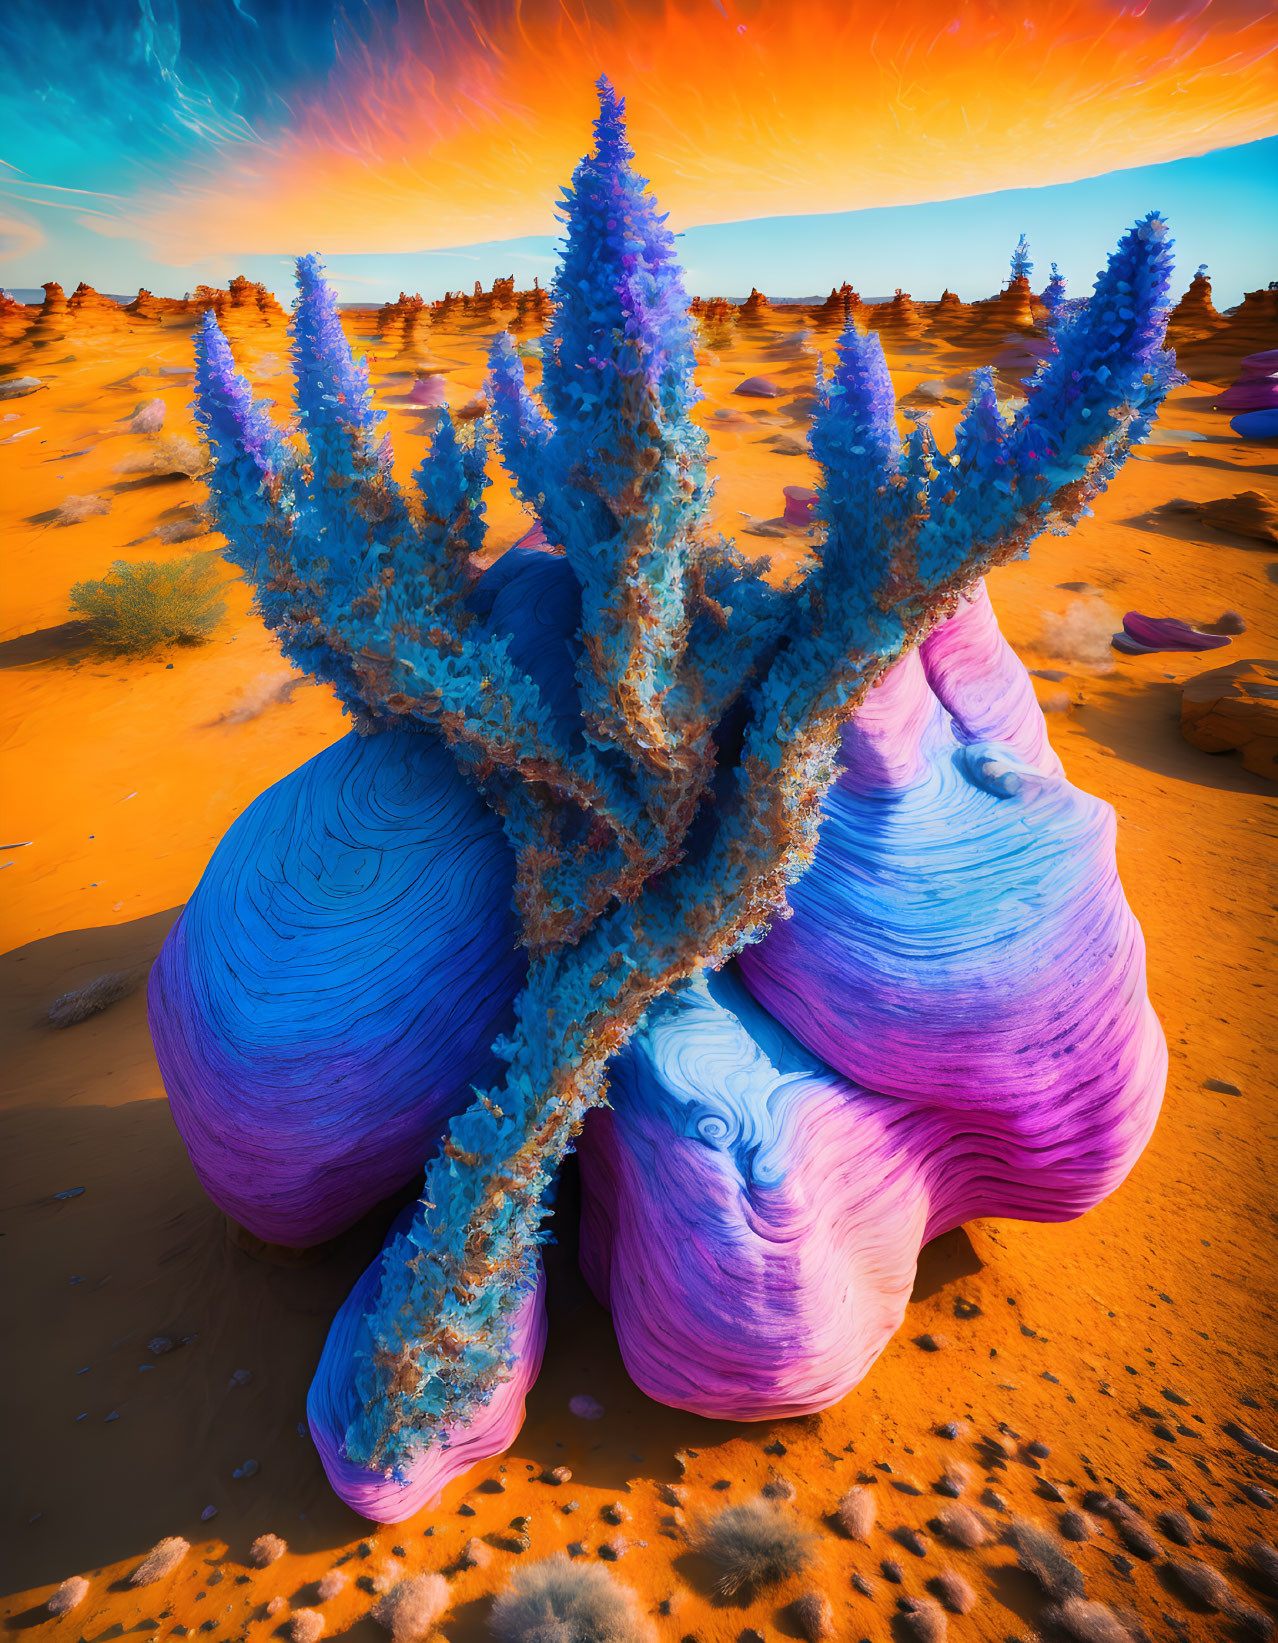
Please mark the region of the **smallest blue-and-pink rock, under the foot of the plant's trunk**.
MULTIPOLYGON (((391 1237, 409 1219, 406 1211, 391 1237)), ((422 1507, 432 1507, 444 1489, 480 1461, 508 1449, 524 1424, 524 1400, 537 1378, 545 1351, 545 1273, 527 1296, 514 1323, 511 1378, 465 1426, 448 1431, 444 1443, 417 1454, 404 1477, 373 1472, 347 1457, 345 1434, 358 1413, 358 1357, 370 1347, 366 1309, 373 1301, 379 1262, 366 1268, 342 1305, 324 1342, 315 1378, 306 1400, 306 1418, 333 1490, 347 1505, 375 1523, 402 1523, 422 1507)))

